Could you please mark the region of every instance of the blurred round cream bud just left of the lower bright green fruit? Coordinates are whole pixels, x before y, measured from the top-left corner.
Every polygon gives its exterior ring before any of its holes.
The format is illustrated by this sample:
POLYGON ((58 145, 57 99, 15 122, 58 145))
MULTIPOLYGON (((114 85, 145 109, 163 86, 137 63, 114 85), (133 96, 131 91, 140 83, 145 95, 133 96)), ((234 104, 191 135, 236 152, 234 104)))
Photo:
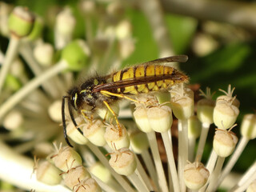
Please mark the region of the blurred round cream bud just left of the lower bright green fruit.
POLYGON ((42 66, 50 66, 53 62, 54 47, 50 43, 38 44, 34 47, 34 58, 42 66))

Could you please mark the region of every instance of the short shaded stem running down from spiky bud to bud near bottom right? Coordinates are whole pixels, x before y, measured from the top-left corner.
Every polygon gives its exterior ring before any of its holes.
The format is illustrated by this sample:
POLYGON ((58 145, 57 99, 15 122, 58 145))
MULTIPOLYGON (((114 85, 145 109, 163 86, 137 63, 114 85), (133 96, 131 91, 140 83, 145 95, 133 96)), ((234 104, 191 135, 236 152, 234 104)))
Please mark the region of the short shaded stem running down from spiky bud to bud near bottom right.
POLYGON ((202 131, 201 131, 201 135, 199 138, 198 151, 197 151, 194 161, 201 162, 203 149, 206 145, 206 138, 207 138, 207 134, 209 131, 209 127, 210 127, 209 123, 205 123, 205 122, 202 123, 202 131))

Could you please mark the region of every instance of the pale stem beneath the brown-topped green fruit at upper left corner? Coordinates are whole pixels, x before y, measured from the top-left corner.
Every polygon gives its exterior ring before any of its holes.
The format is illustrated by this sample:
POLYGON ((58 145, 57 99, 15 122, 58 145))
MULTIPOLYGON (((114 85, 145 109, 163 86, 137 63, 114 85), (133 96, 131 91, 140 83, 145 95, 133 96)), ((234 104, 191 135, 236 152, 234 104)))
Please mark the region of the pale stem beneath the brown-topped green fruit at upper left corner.
POLYGON ((19 38, 15 38, 13 36, 10 37, 9 46, 6 51, 6 57, 2 64, 2 69, 0 71, 0 94, 2 92, 2 86, 6 80, 6 75, 8 74, 8 70, 10 69, 11 63, 14 61, 14 58, 18 53, 18 45, 20 43, 19 38))

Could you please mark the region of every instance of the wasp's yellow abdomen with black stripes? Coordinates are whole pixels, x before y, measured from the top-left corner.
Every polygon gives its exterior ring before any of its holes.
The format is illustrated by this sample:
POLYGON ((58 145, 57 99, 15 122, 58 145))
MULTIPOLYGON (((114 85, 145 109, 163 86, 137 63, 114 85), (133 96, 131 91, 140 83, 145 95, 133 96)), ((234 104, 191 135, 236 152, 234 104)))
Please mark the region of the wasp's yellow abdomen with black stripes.
POLYGON ((150 91, 167 90, 178 82, 188 80, 185 74, 171 66, 142 65, 132 66, 112 74, 112 81, 128 81, 133 86, 118 88, 117 93, 147 94, 150 91))

